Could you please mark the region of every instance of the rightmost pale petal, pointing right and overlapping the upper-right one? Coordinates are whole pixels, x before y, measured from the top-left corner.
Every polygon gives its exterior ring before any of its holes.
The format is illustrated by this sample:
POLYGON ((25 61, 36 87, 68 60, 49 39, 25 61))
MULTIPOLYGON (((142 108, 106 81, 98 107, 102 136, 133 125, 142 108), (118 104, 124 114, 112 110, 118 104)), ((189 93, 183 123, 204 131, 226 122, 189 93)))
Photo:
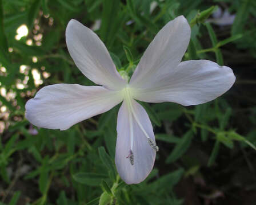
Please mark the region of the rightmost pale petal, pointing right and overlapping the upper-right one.
POLYGON ((228 91, 235 76, 231 68, 210 60, 188 60, 157 80, 155 87, 135 90, 134 98, 150 103, 202 104, 228 91))

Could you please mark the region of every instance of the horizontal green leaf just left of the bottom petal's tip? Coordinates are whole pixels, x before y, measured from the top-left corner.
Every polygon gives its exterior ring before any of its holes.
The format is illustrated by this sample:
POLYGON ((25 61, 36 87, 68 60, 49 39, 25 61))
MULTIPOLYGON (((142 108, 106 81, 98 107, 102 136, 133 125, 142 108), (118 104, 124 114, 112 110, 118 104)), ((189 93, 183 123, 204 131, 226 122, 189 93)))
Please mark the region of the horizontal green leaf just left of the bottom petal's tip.
POLYGON ((83 185, 99 186, 102 179, 107 178, 106 174, 98 173, 77 173, 73 175, 76 182, 82 183, 83 185))

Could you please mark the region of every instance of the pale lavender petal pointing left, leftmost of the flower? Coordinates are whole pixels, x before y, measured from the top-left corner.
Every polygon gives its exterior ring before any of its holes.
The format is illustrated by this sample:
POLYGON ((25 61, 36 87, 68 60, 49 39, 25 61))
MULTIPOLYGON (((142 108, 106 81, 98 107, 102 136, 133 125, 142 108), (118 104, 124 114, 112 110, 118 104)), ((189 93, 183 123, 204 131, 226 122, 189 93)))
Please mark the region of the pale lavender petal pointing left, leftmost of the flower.
POLYGON ((55 84, 43 87, 26 103, 26 118, 40 128, 66 130, 121 103, 119 92, 101 86, 55 84))

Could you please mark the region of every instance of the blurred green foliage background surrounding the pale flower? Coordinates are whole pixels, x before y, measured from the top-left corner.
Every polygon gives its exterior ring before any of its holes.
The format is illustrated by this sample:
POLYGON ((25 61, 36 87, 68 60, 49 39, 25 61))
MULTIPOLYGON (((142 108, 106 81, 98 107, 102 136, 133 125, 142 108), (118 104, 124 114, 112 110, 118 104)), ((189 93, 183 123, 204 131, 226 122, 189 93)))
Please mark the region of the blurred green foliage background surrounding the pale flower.
POLYGON ((255 25, 254 0, 0 0, 0 204, 256 204, 255 25), (178 15, 191 26, 183 60, 225 64, 237 80, 210 103, 142 104, 160 148, 144 182, 126 185, 115 169, 119 105, 62 132, 25 119, 43 86, 93 85, 67 52, 71 18, 131 75, 178 15))

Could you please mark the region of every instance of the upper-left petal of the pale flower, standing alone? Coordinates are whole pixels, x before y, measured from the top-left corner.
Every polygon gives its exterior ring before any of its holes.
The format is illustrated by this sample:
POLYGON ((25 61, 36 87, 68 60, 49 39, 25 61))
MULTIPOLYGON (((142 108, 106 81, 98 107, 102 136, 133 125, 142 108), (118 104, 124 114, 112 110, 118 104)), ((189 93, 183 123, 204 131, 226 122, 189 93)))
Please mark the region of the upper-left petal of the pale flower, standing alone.
POLYGON ((66 28, 66 43, 75 64, 91 81, 112 90, 125 86, 104 43, 90 28, 71 19, 66 28))

